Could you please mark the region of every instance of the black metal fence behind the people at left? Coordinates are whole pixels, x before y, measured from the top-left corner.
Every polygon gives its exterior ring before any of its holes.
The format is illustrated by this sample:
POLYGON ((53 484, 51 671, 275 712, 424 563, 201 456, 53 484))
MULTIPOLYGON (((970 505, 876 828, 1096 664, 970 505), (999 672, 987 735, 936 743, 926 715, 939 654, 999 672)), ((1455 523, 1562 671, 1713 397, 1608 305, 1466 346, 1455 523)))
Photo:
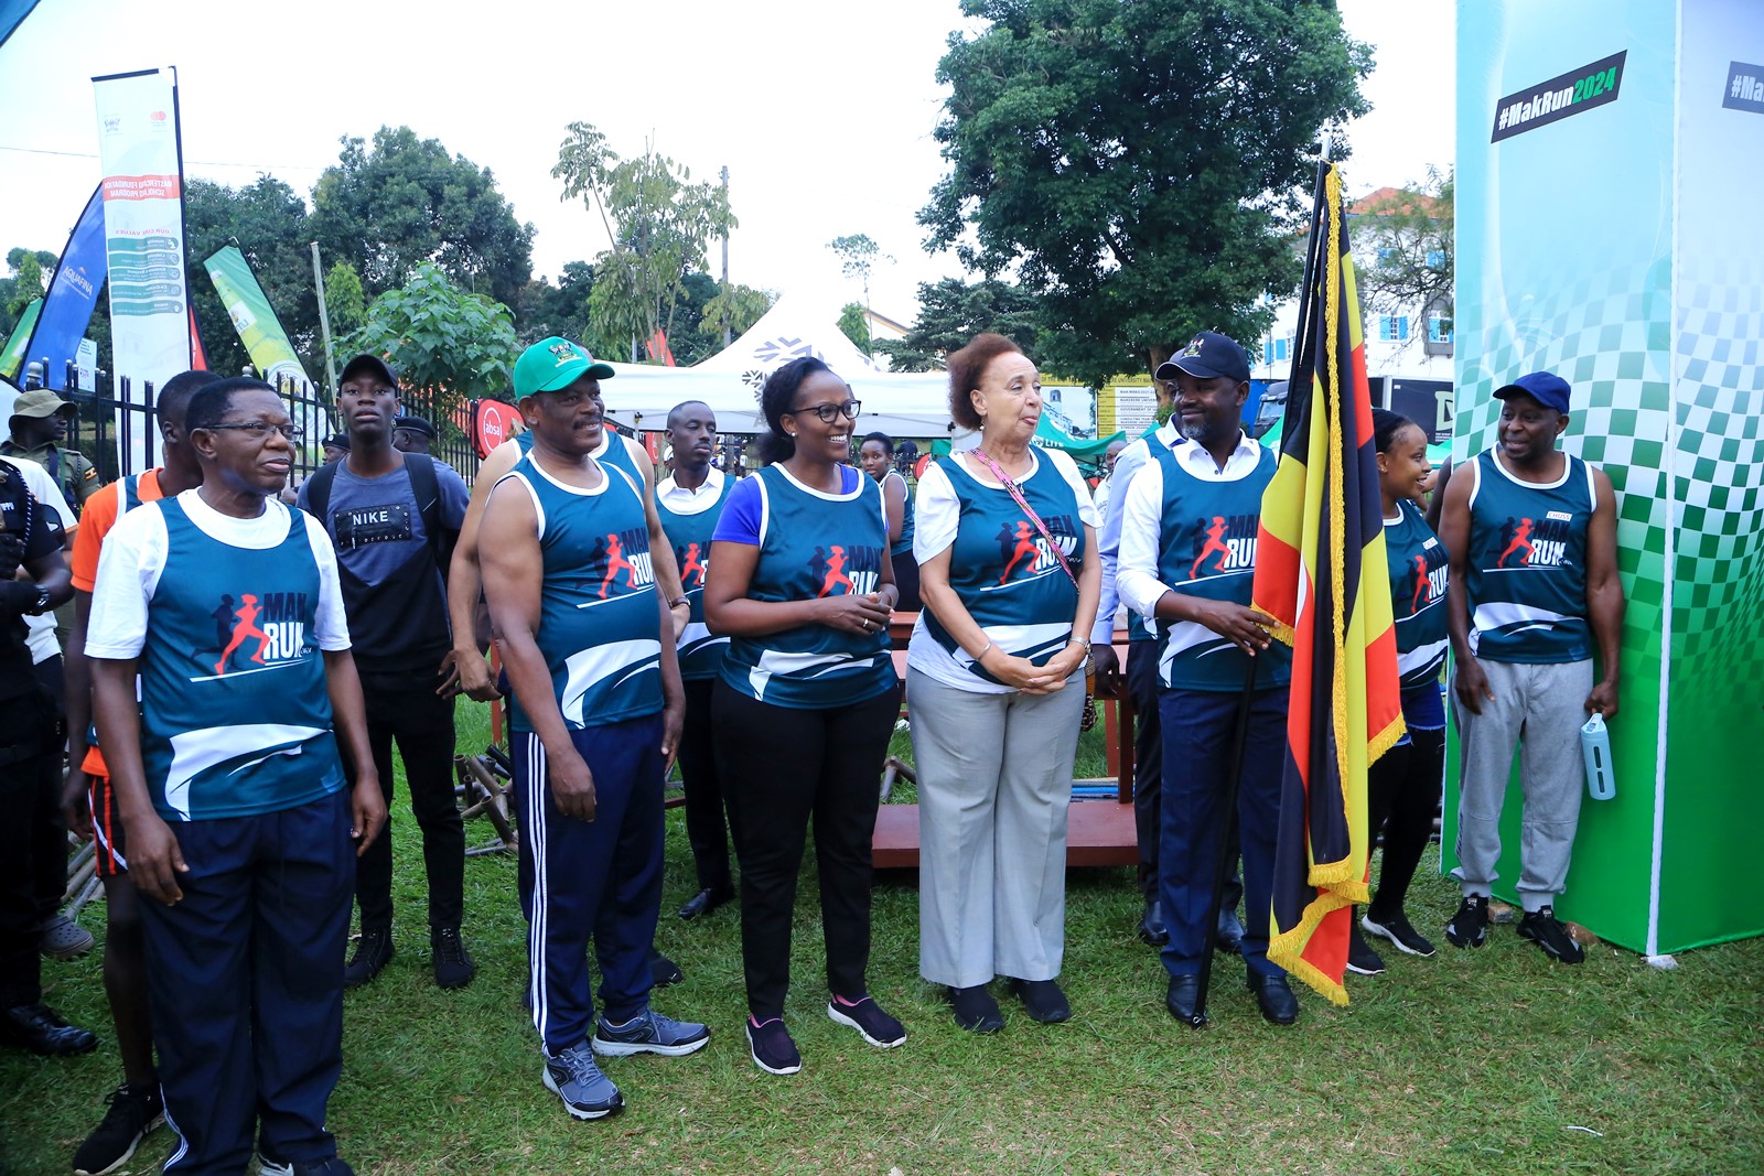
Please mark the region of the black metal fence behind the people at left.
MULTIPOLYGON (((132 381, 123 376, 113 381, 109 372, 97 372, 99 391, 78 391, 74 365, 67 365, 67 391, 60 393, 78 413, 64 444, 79 450, 92 460, 102 481, 139 474, 159 465, 159 425, 153 418, 157 402, 153 381, 132 381), (120 395, 118 395, 120 393, 120 395)), ((288 414, 300 430, 295 444, 291 485, 303 481, 325 464, 325 437, 342 432, 337 406, 323 388, 302 379, 282 377, 277 391, 288 404, 288 414)), ((407 414, 422 416, 436 428, 430 453, 455 471, 469 485, 478 473, 478 455, 471 437, 455 414, 439 411, 425 393, 400 393, 407 414)))

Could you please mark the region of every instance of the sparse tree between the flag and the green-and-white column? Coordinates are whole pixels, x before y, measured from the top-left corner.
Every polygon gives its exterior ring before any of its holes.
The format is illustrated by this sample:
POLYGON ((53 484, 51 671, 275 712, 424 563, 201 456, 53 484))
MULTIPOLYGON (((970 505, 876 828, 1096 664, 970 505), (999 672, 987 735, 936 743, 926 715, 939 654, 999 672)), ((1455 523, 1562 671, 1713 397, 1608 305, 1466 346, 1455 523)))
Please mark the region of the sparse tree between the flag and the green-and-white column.
POLYGON ((1353 245, 1367 257, 1358 287, 1369 314, 1452 317, 1454 196, 1454 173, 1429 169, 1424 183, 1355 201, 1353 245))

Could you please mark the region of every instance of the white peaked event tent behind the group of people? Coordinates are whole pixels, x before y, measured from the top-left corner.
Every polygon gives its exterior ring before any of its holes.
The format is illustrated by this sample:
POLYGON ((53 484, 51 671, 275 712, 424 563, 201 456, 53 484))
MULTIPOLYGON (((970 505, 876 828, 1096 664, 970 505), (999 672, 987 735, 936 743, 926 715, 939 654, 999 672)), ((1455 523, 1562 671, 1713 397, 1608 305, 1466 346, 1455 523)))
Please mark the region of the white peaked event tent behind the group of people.
POLYGON ((766 377, 790 360, 824 360, 863 400, 856 435, 880 430, 891 437, 947 437, 949 377, 942 372, 887 372, 866 358, 834 324, 836 314, 813 298, 785 294, 759 323, 729 347, 693 367, 614 363, 614 379, 602 383, 607 416, 617 423, 654 432, 665 427, 669 409, 683 400, 702 400, 716 413, 723 434, 757 434, 766 428, 759 390, 766 377))

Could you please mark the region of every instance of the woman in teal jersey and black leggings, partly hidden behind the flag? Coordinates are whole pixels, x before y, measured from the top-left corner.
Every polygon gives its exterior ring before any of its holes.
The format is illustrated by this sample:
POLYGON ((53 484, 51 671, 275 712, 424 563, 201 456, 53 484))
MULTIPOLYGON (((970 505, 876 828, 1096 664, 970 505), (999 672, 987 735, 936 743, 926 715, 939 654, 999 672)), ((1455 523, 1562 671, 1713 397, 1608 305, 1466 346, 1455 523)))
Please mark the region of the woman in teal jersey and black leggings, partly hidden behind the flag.
MULTIPOLYGON (((1445 598, 1450 557, 1427 525, 1416 501, 1432 467, 1427 434, 1406 416, 1372 409, 1378 446, 1378 490, 1385 501, 1385 557, 1390 564, 1390 612, 1397 629, 1397 672, 1402 684, 1402 721, 1409 728, 1367 774, 1367 836, 1385 834, 1385 864, 1365 917, 1367 931, 1409 956, 1432 956, 1429 943, 1402 913, 1409 880, 1432 836, 1445 778, 1445 703, 1439 670, 1445 666, 1445 598)), ((1355 927, 1348 968, 1360 975, 1385 970, 1355 927)))

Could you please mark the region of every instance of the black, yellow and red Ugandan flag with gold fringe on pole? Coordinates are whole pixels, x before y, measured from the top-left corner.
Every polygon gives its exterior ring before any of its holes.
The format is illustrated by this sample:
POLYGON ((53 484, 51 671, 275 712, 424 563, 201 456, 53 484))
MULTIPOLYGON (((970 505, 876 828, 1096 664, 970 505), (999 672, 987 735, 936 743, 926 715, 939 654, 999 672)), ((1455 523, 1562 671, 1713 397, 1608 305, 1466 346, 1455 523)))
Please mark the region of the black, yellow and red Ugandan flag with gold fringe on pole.
POLYGON ((1261 499, 1256 608, 1293 647, 1268 959, 1337 1005, 1367 901, 1365 769, 1402 737, 1383 502, 1341 176, 1311 215, 1281 464, 1261 499))

